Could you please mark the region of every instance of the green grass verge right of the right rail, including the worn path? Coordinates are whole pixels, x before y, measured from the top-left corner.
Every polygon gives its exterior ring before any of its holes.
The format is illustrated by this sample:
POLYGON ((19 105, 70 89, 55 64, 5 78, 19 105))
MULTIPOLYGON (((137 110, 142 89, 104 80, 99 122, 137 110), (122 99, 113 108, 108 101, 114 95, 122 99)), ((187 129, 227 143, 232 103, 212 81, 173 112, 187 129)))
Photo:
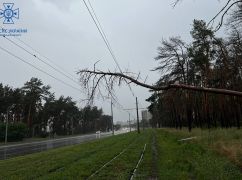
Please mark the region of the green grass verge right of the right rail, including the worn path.
POLYGON ((181 136, 154 130, 136 179, 242 179, 239 168, 225 156, 181 136))

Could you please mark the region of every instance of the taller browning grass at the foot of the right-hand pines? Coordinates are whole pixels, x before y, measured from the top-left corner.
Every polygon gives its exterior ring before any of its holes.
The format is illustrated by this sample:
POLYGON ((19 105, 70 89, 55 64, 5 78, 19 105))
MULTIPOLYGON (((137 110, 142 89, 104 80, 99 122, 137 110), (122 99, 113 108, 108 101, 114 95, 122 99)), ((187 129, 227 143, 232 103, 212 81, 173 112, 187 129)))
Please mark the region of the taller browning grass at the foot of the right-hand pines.
POLYGON ((231 129, 193 129, 191 133, 187 129, 166 129, 179 138, 196 136, 197 139, 190 142, 201 144, 212 149, 220 155, 226 156, 230 161, 242 169, 242 130, 231 129))

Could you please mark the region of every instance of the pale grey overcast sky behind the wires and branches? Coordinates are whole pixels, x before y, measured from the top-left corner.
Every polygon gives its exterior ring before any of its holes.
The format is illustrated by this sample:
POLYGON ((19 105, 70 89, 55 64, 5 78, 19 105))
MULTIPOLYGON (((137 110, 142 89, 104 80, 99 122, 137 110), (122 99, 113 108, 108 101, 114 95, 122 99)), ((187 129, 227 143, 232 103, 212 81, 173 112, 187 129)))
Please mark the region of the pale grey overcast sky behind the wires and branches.
MULTIPOLYGON (((154 57, 160 40, 179 35, 189 42, 193 19, 209 21, 226 0, 183 0, 176 8, 172 7, 174 0, 90 1, 120 66, 136 73, 141 72, 143 78, 148 75, 147 82, 153 84, 158 80, 159 73, 150 70, 157 65, 154 57)), ((27 28, 28 33, 22 35, 20 39, 66 69, 74 77, 78 78, 75 74, 78 69, 93 67, 97 60, 101 60, 98 64, 101 70, 116 68, 82 0, 0 0, 0 9, 3 8, 2 3, 6 2, 13 2, 15 8, 20 9, 20 19, 15 20, 14 25, 3 25, 3 20, 0 19, 1 26, 27 28)), ((18 42, 17 39, 13 38, 13 40, 18 42)), ((80 88, 3 37, 0 37, 0 45, 48 73, 80 88)), ((79 102, 86 98, 85 94, 38 72, 1 50, 0 63, 0 81, 5 85, 20 87, 31 77, 38 77, 52 87, 57 97, 71 96, 79 106, 83 106, 79 102)), ((136 86, 132 88, 139 99, 140 106, 147 107, 148 103, 145 99, 150 95, 148 90, 136 86)), ((135 107, 135 98, 128 87, 117 88, 116 93, 123 107, 135 107)), ((109 114, 109 101, 97 100, 96 105, 109 114)), ((135 112, 132 114, 134 117, 135 112)), ((127 112, 114 109, 115 121, 127 121, 127 119, 127 112)))

